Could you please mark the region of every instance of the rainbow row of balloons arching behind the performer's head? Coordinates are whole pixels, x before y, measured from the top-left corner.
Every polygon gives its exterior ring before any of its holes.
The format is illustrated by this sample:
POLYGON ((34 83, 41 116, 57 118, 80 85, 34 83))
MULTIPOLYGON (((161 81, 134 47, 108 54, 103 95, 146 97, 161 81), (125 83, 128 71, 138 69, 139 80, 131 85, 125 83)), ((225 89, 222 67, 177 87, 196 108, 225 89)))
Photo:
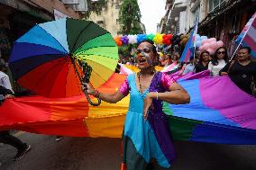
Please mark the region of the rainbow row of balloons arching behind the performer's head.
POLYGON ((138 34, 138 35, 123 35, 114 37, 114 41, 117 46, 122 46, 123 44, 135 44, 140 43, 142 40, 152 40, 156 44, 167 45, 172 44, 173 35, 172 34, 138 34))

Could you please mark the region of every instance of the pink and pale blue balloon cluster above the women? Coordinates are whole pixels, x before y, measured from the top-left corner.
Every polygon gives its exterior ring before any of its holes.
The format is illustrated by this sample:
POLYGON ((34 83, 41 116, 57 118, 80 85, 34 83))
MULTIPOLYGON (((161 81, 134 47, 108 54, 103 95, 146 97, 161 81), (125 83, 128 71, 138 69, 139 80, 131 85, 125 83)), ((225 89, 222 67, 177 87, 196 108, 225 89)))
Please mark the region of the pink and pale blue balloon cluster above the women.
POLYGON ((196 47, 200 52, 208 51, 210 55, 215 54, 215 50, 223 47, 224 42, 222 40, 216 40, 215 38, 208 39, 206 36, 196 35, 196 47))

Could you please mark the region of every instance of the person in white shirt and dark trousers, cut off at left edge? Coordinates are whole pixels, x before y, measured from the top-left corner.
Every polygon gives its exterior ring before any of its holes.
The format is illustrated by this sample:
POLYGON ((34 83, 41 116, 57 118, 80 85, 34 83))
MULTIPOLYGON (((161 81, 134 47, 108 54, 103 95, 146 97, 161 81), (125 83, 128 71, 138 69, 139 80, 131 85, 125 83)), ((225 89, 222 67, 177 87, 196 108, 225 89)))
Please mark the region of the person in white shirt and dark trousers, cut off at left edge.
MULTIPOLYGON (((11 86, 9 77, 5 74, 5 70, 5 64, 0 63, 0 95, 4 96, 3 99, 0 99, 0 104, 3 103, 6 98, 14 97, 14 91, 11 86)), ((12 145, 14 148, 17 148, 18 151, 14 157, 14 161, 22 158, 31 149, 30 145, 23 143, 20 139, 17 139, 11 135, 10 131, 8 130, 0 131, 0 142, 12 145)))

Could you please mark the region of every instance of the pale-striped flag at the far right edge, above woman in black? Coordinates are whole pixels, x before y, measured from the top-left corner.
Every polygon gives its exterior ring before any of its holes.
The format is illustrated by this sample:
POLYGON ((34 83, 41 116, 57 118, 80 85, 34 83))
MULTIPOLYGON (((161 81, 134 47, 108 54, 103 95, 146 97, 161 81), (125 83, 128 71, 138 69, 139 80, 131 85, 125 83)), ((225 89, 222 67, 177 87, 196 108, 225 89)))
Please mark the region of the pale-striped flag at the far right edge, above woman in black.
POLYGON ((251 56, 256 58, 256 13, 254 13, 251 19, 246 23, 242 32, 235 40, 235 43, 239 46, 242 44, 242 47, 251 48, 251 56))

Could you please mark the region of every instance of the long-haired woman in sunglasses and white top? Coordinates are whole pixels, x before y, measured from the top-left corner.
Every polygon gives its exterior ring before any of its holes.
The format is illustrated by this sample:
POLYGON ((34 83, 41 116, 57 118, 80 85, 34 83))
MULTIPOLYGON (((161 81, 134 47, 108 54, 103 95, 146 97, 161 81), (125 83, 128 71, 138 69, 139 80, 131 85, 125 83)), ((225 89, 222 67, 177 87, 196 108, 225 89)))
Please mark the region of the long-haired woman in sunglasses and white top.
POLYGON ((226 65, 228 61, 227 49, 220 47, 216 49, 214 58, 209 62, 208 70, 212 76, 219 76, 219 71, 226 65))

